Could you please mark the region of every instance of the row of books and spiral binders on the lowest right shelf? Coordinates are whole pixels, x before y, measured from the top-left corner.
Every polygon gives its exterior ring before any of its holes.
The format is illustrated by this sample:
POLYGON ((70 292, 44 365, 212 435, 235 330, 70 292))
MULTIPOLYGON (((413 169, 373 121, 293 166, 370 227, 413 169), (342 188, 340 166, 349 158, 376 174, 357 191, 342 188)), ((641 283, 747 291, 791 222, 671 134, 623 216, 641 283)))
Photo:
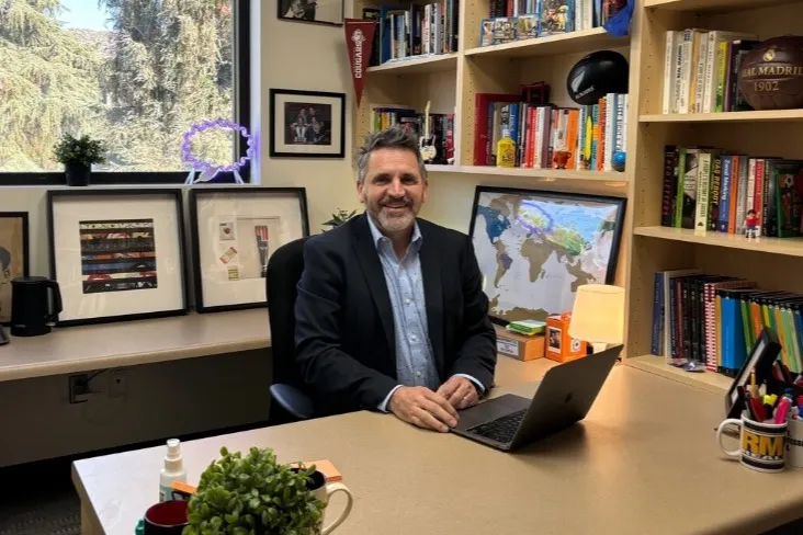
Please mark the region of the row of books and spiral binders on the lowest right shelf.
POLYGON ((803 372, 803 295, 698 269, 656 272, 654 289, 653 354, 733 376, 769 327, 783 346, 783 364, 803 372))

